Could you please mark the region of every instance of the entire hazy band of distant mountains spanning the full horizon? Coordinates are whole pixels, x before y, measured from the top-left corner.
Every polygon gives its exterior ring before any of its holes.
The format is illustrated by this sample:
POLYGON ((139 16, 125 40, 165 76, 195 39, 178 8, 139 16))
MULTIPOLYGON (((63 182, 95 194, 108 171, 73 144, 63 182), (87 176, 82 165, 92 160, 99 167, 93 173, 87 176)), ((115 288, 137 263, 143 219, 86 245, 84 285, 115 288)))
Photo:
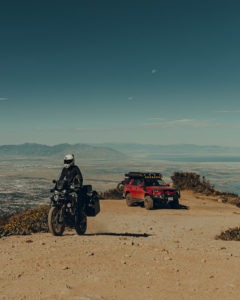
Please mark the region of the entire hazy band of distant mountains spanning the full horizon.
POLYGON ((134 143, 58 144, 25 143, 0 146, 0 155, 63 157, 74 153, 86 160, 169 160, 169 161, 240 161, 240 147, 199 146, 193 144, 151 145, 134 143))

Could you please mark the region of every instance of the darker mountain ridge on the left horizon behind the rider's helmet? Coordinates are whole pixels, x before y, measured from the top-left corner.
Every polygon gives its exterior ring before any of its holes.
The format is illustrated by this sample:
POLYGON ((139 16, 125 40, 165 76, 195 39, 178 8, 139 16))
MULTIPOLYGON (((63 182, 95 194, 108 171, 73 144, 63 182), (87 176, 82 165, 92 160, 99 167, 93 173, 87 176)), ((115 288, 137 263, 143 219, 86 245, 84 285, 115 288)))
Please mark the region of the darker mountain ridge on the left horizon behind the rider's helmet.
POLYGON ((35 143, 25 143, 21 145, 0 146, 0 155, 4 156, 63 157, 67 153, 74 153, 78 159, 88 160, 124 160, 127 158, 126 154, 107 146, 91 146, 86 144, 59 144, 47 146, 35 143))

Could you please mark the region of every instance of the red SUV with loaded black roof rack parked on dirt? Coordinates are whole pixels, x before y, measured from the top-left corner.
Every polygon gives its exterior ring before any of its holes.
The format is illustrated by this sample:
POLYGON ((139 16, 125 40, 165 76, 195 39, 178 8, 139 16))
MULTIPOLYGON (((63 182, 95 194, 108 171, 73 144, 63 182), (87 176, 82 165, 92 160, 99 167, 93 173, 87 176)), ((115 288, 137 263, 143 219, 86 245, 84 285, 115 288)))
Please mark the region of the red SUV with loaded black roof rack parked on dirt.
POLYGON ((180 191, 165 183, 160 173, 129 172, 117 187, 128 206, 143 204, 146 209, 167 205, 179 206, 180 191))

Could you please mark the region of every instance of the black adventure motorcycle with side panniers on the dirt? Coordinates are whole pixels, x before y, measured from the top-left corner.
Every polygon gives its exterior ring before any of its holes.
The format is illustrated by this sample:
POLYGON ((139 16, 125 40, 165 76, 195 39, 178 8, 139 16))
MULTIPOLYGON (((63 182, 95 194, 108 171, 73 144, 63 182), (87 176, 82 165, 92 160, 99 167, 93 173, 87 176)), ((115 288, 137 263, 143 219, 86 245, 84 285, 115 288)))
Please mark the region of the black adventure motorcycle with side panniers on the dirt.
POLYGON ((61 236, 65 226, 75 228, 77 234, 83 235, 87 230, 87 216, 96 216, 100 212, 99 198, 91 185, 80 190, 68 186, 66 181, 53 180, 55 187, 51 190, 51 207, 48 213, 49 231, 61 236))

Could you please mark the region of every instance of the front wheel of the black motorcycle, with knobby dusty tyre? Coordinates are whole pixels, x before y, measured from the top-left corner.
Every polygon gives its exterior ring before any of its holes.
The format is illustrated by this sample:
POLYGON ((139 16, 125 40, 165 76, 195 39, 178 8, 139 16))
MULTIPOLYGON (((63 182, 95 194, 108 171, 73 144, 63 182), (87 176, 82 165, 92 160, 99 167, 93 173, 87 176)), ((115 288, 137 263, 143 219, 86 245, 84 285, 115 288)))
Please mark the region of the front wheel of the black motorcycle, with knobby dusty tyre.
POLYGON ((49 231, 56 236, 63 234, 65 230, 64 221, 60 221, 61 210, 55 206, 52 206, 48 213, 48 228, 49 231))

